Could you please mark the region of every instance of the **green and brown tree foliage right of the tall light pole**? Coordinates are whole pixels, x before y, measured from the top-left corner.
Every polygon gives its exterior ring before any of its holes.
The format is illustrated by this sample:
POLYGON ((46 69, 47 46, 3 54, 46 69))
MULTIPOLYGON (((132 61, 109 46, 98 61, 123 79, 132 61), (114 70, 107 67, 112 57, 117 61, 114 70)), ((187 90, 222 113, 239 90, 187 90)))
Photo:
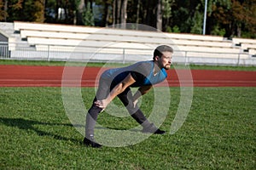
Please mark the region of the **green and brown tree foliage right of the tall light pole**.
POLYGON ((256 0, 212 0, 209 11, 208 31, 211 34, 218 27, 218 31, 224 29, 224 37, 255 37, 256 0))

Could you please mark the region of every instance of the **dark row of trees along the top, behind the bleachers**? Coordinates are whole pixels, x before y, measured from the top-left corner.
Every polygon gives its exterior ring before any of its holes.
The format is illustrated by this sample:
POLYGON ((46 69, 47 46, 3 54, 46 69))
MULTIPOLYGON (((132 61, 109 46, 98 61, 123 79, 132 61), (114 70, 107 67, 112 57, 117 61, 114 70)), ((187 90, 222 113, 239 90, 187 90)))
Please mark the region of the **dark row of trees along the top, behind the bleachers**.
MULTIPOLYGON (((137 23, 161 31, 201 34, 206 0, 0 0, 0 21, 86 26, 137 23)), ((256 35, 256 0, 207 0, 207 34, 256 35)), ((132 29, 139 29, 136 27, 132 29)))

